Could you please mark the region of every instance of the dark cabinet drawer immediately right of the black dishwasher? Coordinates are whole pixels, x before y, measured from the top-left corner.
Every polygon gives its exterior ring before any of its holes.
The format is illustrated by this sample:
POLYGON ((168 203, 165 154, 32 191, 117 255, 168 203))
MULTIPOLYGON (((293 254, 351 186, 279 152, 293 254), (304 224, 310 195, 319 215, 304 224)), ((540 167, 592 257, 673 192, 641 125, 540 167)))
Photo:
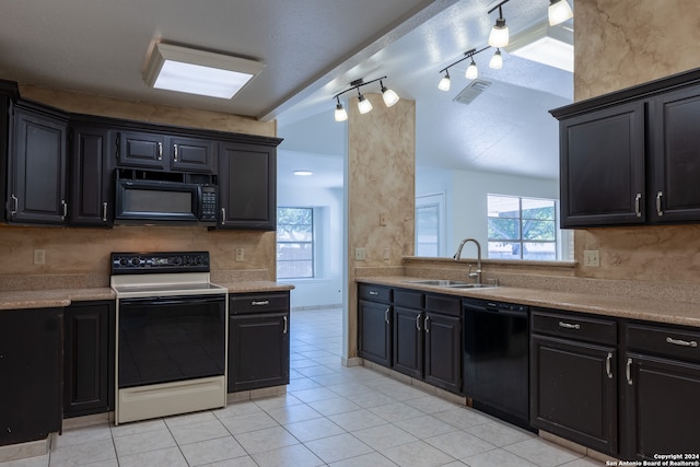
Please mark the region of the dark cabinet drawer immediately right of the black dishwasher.
POLYGON ((597 343, 617 343, 617 322, 533 308, 532 330, 597 343))

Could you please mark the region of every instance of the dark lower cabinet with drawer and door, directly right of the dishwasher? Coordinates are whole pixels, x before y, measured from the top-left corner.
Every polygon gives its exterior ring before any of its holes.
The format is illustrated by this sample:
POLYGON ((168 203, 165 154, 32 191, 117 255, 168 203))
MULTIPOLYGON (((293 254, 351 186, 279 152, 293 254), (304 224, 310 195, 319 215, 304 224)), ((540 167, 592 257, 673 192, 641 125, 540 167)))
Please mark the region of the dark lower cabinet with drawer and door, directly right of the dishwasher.
POLYGON ((533 308, 530 423, 597 452, 618 452, 617 324, 533 308))

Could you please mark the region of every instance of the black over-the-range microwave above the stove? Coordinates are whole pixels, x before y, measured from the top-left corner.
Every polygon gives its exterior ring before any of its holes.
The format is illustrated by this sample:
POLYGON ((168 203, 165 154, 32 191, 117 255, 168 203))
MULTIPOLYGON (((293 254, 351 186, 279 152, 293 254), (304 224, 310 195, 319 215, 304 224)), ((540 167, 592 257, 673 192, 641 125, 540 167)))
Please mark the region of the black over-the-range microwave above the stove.
POLYGON ((215 225, 219 190, 211 183, 116 179, 116 224, 215 225))

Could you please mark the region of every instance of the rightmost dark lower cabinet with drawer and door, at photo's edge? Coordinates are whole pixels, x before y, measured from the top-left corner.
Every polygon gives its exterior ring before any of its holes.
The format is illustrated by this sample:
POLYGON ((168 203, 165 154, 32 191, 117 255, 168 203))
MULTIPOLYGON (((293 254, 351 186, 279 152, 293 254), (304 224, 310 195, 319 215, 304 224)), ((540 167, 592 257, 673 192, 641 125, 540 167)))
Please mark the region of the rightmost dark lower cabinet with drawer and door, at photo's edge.
POLYGON ((700 454, 700 332, 646 324, 625 329, 622 457, 700 454))

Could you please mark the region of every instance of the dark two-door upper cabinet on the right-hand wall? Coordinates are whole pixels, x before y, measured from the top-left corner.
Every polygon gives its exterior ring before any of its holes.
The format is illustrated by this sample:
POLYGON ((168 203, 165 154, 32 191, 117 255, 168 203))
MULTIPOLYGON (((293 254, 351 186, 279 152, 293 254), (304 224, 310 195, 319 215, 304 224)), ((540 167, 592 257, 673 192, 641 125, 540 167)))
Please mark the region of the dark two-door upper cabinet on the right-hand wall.
POLYGON ((700 69, 551 114, 562 227, 700 222, 700 69))

